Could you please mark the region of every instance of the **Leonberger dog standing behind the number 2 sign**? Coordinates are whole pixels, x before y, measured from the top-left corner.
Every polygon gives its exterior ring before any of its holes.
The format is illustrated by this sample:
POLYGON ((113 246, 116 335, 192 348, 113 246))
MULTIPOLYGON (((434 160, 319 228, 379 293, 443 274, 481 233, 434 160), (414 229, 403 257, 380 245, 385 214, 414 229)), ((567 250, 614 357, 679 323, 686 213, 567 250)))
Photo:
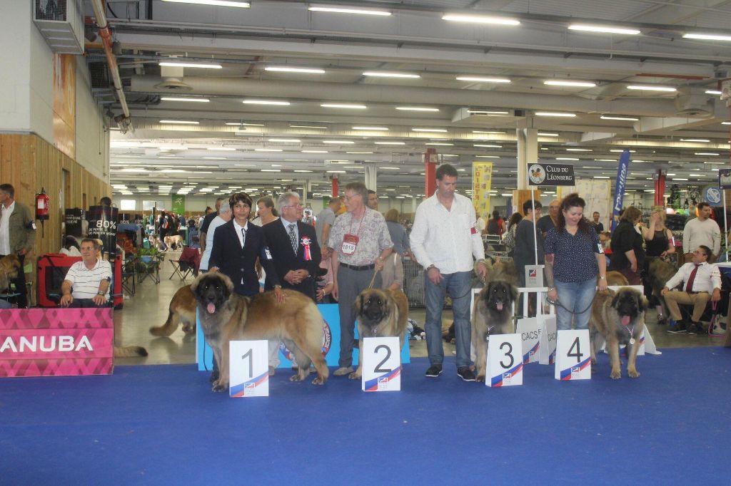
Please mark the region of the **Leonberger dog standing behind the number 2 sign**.
POLYGON ((355 298, 358 329, 358 369, 348 375, 360 379, 363 374, 363 338, 398 337, 398 349, 404 347, 409 320, 409 299, 403 290, 367 288, 355 298))

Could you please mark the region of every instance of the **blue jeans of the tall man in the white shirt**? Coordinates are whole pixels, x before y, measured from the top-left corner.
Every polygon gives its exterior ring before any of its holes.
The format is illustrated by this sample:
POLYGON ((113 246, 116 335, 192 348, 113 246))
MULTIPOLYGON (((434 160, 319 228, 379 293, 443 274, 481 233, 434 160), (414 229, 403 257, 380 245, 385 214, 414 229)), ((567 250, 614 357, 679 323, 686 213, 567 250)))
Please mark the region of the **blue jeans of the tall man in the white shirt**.
POLYGON ((455 318, 455 342, 457 344, 457 367, 470 366, 469 343, 471 328, 469 323, 469 303, 472 292, 470 287, 471 271, 458 271, 454 274, 442 274, 442 282, 434 285, 426 272, 426 347, 431 364, 441 365, 444 361, 442 347, 442 309, 447 290, 452 297, 452 313, 455 318))

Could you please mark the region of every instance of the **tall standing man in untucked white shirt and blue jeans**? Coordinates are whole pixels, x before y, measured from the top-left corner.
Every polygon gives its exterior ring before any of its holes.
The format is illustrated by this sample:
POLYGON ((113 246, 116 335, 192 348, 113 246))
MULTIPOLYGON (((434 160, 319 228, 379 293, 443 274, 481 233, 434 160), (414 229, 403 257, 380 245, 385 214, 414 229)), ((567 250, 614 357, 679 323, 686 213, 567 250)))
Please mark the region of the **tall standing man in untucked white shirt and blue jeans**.
POLYGON ((447 163, 436 169, 436 193, 417 208, 410 238, 412 252, 426 269, 425 328, 431 363, 426 376, 442 374, 442 308, 448 291, 455 323, 457 374, 464 381, 474 382, 469 320, 472 258, 478 262, 481 277, 487 274, 487 267, 472 201, 455 193, 457 176, 456 169, 447 163))

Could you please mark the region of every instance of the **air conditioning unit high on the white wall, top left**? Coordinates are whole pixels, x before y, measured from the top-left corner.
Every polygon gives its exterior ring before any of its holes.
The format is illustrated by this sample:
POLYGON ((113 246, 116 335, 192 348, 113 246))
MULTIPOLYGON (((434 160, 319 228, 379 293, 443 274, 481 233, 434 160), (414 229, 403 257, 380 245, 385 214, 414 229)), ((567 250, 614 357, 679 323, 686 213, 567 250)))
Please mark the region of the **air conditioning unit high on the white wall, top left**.
POLYGON ((83 54, 81 0, 34 0, 33 22, 54 53, 83 54))

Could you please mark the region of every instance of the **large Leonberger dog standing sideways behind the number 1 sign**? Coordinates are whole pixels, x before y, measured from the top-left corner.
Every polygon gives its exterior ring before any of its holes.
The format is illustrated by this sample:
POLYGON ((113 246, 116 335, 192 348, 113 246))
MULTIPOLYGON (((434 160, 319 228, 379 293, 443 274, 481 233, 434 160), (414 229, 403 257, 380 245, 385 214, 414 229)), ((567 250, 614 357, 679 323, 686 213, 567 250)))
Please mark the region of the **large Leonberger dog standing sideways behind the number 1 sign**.
POLYGON ((325 384, 329 371, 322 356, 322 315, 311 298, 296 290, 283 290, 285 300, 281 303, 273 292, 239 296, 231 279, 219 272, 201 274, 191 290, 200 306, 205 342, 219 368, 213 391, 229 387, 229 342, 247 339, 284 341, 298 365, 298 373, 289 380, 306 379, 310 363, 314 363, 317 378, 312 384, 325 384))

